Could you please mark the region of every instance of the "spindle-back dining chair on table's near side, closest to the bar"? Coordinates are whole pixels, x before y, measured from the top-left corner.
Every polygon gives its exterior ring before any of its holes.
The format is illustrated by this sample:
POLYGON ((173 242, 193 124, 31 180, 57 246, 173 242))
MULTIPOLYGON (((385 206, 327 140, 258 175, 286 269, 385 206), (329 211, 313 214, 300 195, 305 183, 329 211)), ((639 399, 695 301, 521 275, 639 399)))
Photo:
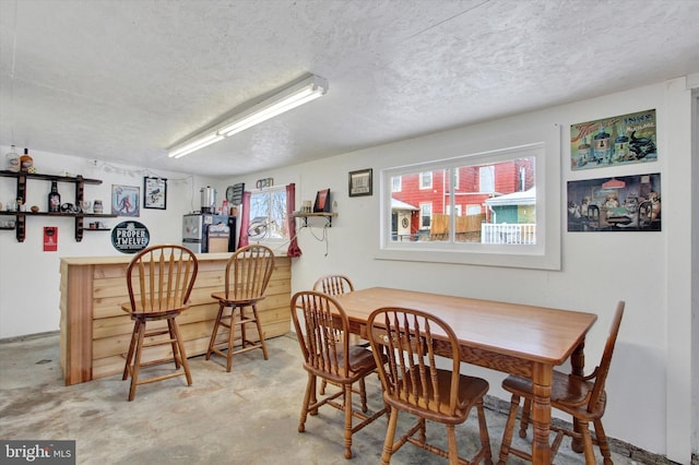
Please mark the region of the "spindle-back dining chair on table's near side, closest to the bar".
POLYGON ((383 407, 367 415, 366 396, 362 398, 362 412, 353 405, 353 384, 376 371, 374 354, 367 348, 350 345, 350 322, 334 297, 315 290, 296 293, 291 311, 304 356, 304 369, 308 373, 298 431, 306 430, 308 414, 317 415, 323 405, 344 412, 344 456, 352 458, 352 436, 386 413, 383 407), (318 379, 337 384, 342 390, 319 398, 316 393, 318 379), (359 422, 353 425, 353 417, 359 422))

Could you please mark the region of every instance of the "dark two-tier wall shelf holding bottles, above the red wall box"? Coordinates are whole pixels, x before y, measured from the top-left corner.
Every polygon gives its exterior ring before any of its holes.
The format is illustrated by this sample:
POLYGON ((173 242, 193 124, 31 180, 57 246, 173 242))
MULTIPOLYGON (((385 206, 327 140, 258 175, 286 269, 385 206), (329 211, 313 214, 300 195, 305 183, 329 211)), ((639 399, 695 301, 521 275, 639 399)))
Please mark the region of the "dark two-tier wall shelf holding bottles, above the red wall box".
MULTIPOLYGON (((74 205, 80 205, 84 199, 85 184, 102 184, 99 179, 88 179, 82 176, 55 176, 55 175, 42 175, 38 172, 14 172, 8 170, 0 170, 0 177, 15 178, 16 179, 16 199, 22 199, 22 203, 26 207, 26 183, 28 179, 43 180, 43 181, 57 181, 75 184, 75 202, 74 205)), ((51 212, 16 212, 16 211, 2 211, 0 215, 14 216, 15 226, 3 226, 0 229, 16 231, 17 242, 24 242, 26 238, 26 217, 27 216, 49 216, 49 217, 71 217, 75 218, 75 241, 83 240, 84 230, 100 230, 100 229, 87 229, 83 226, 83 218, 116 218, 117 215, 110 214, 95 214, 95 213, 51 213, 51 212)), ((105 228, 104 230, 109 230, 105 228)))

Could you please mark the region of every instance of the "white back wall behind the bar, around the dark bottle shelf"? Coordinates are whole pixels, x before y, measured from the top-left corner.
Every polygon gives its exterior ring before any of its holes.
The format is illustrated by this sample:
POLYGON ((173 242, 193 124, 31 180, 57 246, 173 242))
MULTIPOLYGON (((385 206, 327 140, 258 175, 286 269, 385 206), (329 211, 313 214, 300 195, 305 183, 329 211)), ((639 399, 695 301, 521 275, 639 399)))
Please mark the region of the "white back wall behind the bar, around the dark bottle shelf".
MULTIPOLYGON (((99 186, 85 186, 85 199, 100 199, 105 213, 110 213, 109 199, 111 184, 137 186, 143 194, 143 177, 161 176, 167 181, 167 208, 143 208, 138 218, 150 231, 151 243, 181 243, 181 217, 185 213, 199 210, 201 187, 210 180, 190 175, 168 171, 146 171, 139 167, 98 163, 91 166, 84 158, 38 152, 29 148, 37 172, 60 175, 67 169, 71 176, 82 175, 85 178, 102 179, 99 186)), ((17 147, 22 151, 23 147, 17 147)), ((9 146, 0 146, 2 169, 4 154, 9 146)), ((98 158, 98 157, 96 157, 98 158)), ((28 179, 27 207, 38 205, 47 208, 47 195, 50 182, 28 179)), ((74 202, 75 190, 72 183, 59 182, 61 202, 74 202)), ((3 208, 16 198, 14 178, 0 177, 0 202, 3 208)), ((0 215, 0 222, 14 219, 13 216, 0 215)), ((127 217, 103 219, 114 227, 127 217)), ((85 219, 85 227, 90 219, 85 219)), ((26 238, 17 242, 13 230, 0 230, 0 338, 25 334, 57 331, 59 324, 59 263, 61 257, 83 255, 119 255, 111 246, 108 231, 85 231, 81 242, 75 241, 74 220, 71 217, 27 217, 26 238), (58 227, 58 251, 44 252, 44 226, 58 227)))

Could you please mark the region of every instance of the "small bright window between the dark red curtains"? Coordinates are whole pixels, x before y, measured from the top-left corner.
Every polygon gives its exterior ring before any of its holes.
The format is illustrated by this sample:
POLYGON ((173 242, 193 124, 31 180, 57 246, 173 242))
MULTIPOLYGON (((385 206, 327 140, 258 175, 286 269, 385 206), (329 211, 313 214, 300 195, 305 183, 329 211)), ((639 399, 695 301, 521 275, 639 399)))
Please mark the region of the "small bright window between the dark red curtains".
POLYGON ((286 189, 271 188, 250 195, 250 241, 288 240, 286 189))

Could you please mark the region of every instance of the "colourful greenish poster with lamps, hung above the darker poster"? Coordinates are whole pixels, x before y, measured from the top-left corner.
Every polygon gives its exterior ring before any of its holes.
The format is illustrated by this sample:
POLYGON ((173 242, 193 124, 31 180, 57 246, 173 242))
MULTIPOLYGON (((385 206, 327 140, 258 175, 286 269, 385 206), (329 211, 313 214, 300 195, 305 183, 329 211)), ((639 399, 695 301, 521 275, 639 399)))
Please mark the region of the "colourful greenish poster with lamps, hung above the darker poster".
POLYGON ((570 168, 657 160, 655 110, 638 111, 570 126, 570 168))

